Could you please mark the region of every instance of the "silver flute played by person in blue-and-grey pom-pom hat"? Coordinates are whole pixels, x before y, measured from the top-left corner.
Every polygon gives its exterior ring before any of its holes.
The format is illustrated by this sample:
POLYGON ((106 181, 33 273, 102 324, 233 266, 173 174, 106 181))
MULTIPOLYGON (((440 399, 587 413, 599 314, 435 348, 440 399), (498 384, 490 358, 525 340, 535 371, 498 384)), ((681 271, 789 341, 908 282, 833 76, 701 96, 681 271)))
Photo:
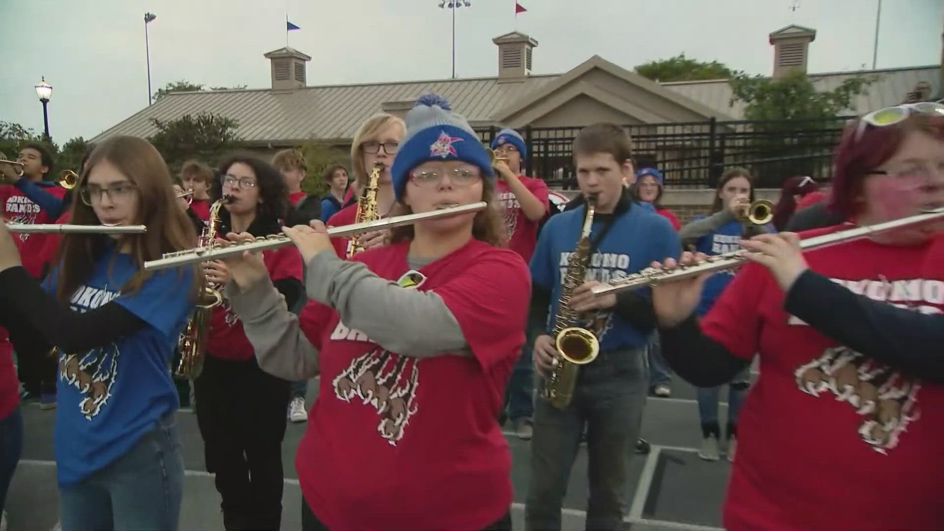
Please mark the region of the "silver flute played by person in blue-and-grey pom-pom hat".
MULTIPOLYGON (((345 237, 353 236, 363 232, 382 231, 385 229, 393 229, 394 227, 402 227, 404 225, 413 225, 413 223, 416 223, 417 221, 449 217, 457 214, 477 213, 485 210, 487 207, 488 203, 485 201, 479 201, 477 203, 451 206, 444 209, 423 212, 419 214, 406 214, 397 215, 396 217, 373 219, 370 221, 363 221, 361 223, 342 225, 340 227, 329 227, 328 235, 334 237, 345 237)), ((167 267, 183 266, 185 264, 197 264, 199 262, 207 262, 210 260, 223 260, 230 256, 241 255, 247 250, 261 251, 280 248, 287 245, 292 245, 292 240, 289 239, 289 237, 285 234, 269 234, 268 236, 240 244, 229 243, 226 246, 214 244, 205 248, 190 248, 186 250, 178 250, 177 252, 169 252, 157 260, 144 262, 144 269, 157 270, 167 267)))

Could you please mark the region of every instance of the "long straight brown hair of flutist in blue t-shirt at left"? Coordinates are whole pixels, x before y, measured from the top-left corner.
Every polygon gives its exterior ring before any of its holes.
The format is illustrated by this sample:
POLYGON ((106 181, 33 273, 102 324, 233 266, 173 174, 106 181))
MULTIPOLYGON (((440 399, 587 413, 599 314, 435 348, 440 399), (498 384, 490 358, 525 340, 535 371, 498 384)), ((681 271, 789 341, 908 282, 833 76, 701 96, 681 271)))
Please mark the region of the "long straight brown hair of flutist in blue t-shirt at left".
MULTIPOLYGON (((123 236, 119 244, 130 243, 130 255, 139 266, 121 291, 127 293, 141 287, 150 275, 143 263, 156 260, 165 252, 194 247, 196 232, 187 214, 177 206, 174 184, 167 164, 158 150, 146 140, 133 136, 116 136, 95 146, 88 163, 82 169, 76 189, 86 185, 89 173, 98 163, 107 162, 115 166, 137 187, 137 223, 147 227, 143 234, 123 236)), ((93 208, 75 194, 72 199, 72 221, 77 225, 98 225, 98 216, 93 208)), ((65 234, 59 246, 56 263, 59 265, 57 297, 63 302, 72 298, 76 289, 85 282, 94 270, 99 255, 105 251, 109 236, 65 234)), ((202 285, 202 275, 194 268, 195 290, 202 285)))

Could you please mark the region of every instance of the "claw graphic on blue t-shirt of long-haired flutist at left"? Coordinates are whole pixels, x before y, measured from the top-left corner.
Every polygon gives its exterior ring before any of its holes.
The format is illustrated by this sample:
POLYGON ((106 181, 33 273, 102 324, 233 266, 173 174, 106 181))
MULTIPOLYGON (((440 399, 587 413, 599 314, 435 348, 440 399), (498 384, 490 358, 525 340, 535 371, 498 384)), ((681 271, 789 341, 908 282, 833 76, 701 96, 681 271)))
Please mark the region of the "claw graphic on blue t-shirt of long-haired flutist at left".
POLYGON ((120 354, 114 343, 84 354, 59 354, 59 378, 85 395, 78 409, 86 419, 92 420, 109 402, 120 354))

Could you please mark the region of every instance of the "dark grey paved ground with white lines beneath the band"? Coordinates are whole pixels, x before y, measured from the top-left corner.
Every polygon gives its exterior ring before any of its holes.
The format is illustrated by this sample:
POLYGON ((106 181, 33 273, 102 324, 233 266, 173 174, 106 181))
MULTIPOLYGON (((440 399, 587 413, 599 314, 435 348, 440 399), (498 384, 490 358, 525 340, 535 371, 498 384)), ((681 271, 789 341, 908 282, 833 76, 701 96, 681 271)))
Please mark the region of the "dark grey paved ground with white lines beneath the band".
MULTIPOLYGON (((314 395, 314 385, 310 399, 314 395)), ((726 396, 722 394, 722 396, 726 396)), ((311 401, 310 401, 311 402, 311 401)), ((721 415, 726 412, 722 404, 721 415)), ((181 530, 222 529, 219 495, 211 476, 204 471, 203 445, 194 414, 178 413, 183 438, 187 485, 181 515, 181 530)), ((55 462, 52 461, 54 413, 38 406, 25 406, 23 458, 13 478, 7 507, 9 531, 49 531, 58 518, 55 462)), ((282 529, 301 525, 300 493, 293 467, 295 447, 304 424, 290 424, 283 445, 285 497, 282 529)), ((515 528, 523 529, 523 502, 528 489, 529 444, 506 434, 513 453, 515 528)), ((633 531, 720 529, 719 507, 728 479, 729 463, 699 459, 700 430, 694 389, 683 383, 673 385, 673 398, 649 399, 643 437, 652 443, 649 455, 632 459, 632 485, 627 504, 633 531)), ((565 500, 565 529, 583 529, 586 508, 586 454, 582 450, 571 474, 565 500)))

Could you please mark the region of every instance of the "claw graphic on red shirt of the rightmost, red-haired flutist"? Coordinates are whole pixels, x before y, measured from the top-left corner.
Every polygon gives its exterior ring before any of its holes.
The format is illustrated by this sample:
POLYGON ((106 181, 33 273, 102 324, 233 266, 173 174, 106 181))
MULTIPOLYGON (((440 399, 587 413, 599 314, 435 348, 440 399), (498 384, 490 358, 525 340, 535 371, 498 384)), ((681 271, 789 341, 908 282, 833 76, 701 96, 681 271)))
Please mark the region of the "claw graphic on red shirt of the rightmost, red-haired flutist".
POLYGON ((898 446, 908 424, 918 420, 919 382, 847 347, 823 351, 794 372, 804 393, 831 393, 863 416, 858 435, 880 454, 898 446))

